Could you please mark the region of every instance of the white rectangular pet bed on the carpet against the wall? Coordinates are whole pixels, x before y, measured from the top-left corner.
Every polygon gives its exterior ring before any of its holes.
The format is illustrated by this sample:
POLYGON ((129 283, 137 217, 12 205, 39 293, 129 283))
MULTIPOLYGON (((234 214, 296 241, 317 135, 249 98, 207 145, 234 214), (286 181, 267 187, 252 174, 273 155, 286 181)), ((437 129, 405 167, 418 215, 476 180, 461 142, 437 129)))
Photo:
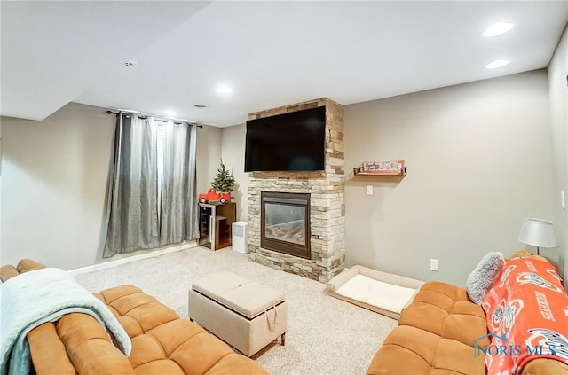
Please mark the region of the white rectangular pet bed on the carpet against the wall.
POLYGON ((422 281, 414 278, 353 266, 329 280, 327 293, 398 319, 422 284, 422 281))

